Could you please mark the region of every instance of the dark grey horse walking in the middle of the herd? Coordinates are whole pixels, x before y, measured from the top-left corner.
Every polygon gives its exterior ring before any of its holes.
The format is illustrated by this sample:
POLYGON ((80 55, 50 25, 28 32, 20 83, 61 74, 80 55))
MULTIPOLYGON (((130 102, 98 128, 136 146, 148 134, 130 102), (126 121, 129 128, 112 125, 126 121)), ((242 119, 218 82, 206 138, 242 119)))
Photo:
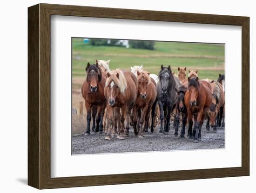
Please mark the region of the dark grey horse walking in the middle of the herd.
POLYGON ((160 132, 163 134, 168 134, 169 124, 171 118, 171 112, 175 108, 176 91, 178 89, 180 82, 175 78, 171 71, 171 66, 163 67, 161 65, 161 71, 158 74, 159 82, 156 84, 157 90, 157 100, 160 107, 160 119, 161 128, 160 132), (163 120, 164 129, 163 129, 163 120))

